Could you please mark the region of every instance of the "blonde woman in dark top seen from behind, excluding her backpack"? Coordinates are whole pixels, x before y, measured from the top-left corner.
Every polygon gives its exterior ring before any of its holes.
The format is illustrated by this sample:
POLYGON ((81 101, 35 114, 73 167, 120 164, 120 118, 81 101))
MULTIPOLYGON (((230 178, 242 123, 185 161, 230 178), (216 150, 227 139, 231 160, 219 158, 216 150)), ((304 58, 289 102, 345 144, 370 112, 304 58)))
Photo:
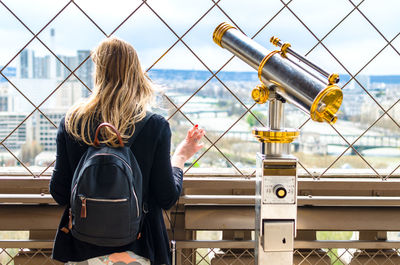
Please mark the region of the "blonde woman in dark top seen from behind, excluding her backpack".
MULTIPOLYGON (((122 247, 100 247, 74 238, 68 229, 71 181, 87 148, 93 145, 94 130, 102 122, 114 125, 124 142, 147 115, 153 88, 143 74, 134 48, 117 38, 104 40, 92 53, 96 66, 95 88, 89 99, 72 107, 57 133, 57 159, 50 181, 55 201, 66 205, 57 231, 53 258, 68 264, 170 264, 168 236, 162 209, 171 208, 182 190, 184 162, 202 148, 204 131, 191 128, 170 158, 171 130, 160 115, 147 116, 135 135, 131 150, 143 175, 149 211, 140 239, 122 247), (119 263, 121 262, 121 263, 119 263)), ((138 126, 139 127, 139 126, 138 126)), ((115 146, 117 136, 101 131, 101 143, 115 146)))

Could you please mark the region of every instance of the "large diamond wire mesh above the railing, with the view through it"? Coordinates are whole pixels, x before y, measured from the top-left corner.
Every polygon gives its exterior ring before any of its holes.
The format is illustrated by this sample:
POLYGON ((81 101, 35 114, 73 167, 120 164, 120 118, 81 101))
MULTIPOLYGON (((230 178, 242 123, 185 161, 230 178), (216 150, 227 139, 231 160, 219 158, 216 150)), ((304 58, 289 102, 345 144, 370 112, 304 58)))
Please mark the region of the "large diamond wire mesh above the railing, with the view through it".
MULTIPOLYGON (((262 44, 266 44, 270 36, 280 34, 310 60, 321 62, 323 68, 348 77, 342 81, 344 103, 339 121, 333 126, 314 124, 293 106, 286 106, 287 123, 302 131, 295 143, 302 151, 294 154, 310 177, 320 178, 332 170, 350 167, 387 179, 397 173, 399 162, 368 155, 367 149, 399 146, 396 88, 400 82, 386 82, 379 89, 376 83, 371 86, 372 77, 367 75, 398 74, 398 70, 393 69, 400 60, 400 33, 392 26, 399 22, 393 11, 396 5, 396 1, 377 5, 372 0, 341 0, 334 5, 330 1, 311 0, 252 0, 246 4, 233 0, 118 0, 112 4, 96 1, 95 5, 78 0, 56 3, 43 0, 35 5, 29 1, 1 0, 3 19, 0 29, 12 25, 16 30, 15 36, 3 38, 4 43, 0 45, 4 50, 0 59, 0 79, 3 80, 0 89, 6 86, 10 94, 18 95, 24 111, 12 123, 8 123, 8 114, 4 116, 2 123, 7 121, 8 126, 2 124, 0 162, 3 166, 24 167, 35 177, 48 171, 55 158, 51 144, 55 142, 54 133, 51 135, 49 131, 56 130, 62 113, 65 113, 65 109, 54 112, 54 106, 71 106, 77 100, 71 96, 74 91, 88 96, 93 89, 90 53, 85 53, 81 47, 94 47, 101 39, 117 35, 132 42, 151 77, 155 76, 156 81, 161 80, 169 86, 160 102, 165 106, 161 112, 174 129, 173 142, 177 143, 182 138, 180 132, 194 124, 207 130, 205 147, 188 164, 186 172, 198 166, 230 167, 243 175, 242 169, 254 164, 254 154, 258 150, 258 143, 249 137, 250 127, 243 129, 243 124, 253 120, 253 125, 265 126, 268 117, 263 114, 266 106, 260 107, 250 100, 250 90, 258 83, 254 75, 240 82, 234 82, 232 76, 226 75, 226 71, 237 69, 255 71, 211 41, 215 26, 228 21, 262 44), (32 10, 24 12, 25 8, 32 10), (69 23, 71 18, 75 23, 69 23), (49 37, 54 36, 54 28, 57 29, 57 41, 75 49, 77 54, 66 55, 62 50, 64 46, 54 43, 54 38, 49 37), (139 36, 141 41, 132 36, 139 36), (149 45, 151 49, 146 49, 149 45), (13 65, 29 60, 32 50, 40 54, 36 56, 40 58, 38 66, 33 70, 18 68, 18 71, 41 81, 33 83, 31 79, 10 77, 13 65), (56 65, 55 69, 39 67, 50 61, 56 65), (160 78, 165 71, 158 69, 166 68, 198 69, 202 76, 179 84, 176 80, 170 82, 170 77, 160 78), (44 77, 52 71, 58 79, 46 80, 44 77), (175 95, 176 91, 184 89, 185 94, 175 95), (214 109, 207 112, 211 105, 204 100, 210 101, 216 96, 214 109), (60 101, 67 98, 71 100, 60 101), (201 104, 206 107, 194 110, 201 104), (204 118, 200 118, 202 115, 215 119, 220 129, 205 124, 204 118), (31 130, 30 126, 36 128, 36 135, 18 138, 31 130), (355 129, 351 129, 352 126, 355 129), (41 128, 48 128, 47 132, 41 128), (39 137, 45 140, 38 143, 39 137), (315 141, 320 143, 318 148, 313 144, 315 141), (333 153, 329 151, 332 147, 333 153), (308 153, 304 151, 307 148, 308 153), (43 152, 51 150, 53 154, 43 152), (34 158, 39 154, 40 159, 34 158), (44 167, 41 174, 33 173, 35 166, 44 167), (313 168, 321 170, 311 174, 313 168)), ((178 78, 179 73, 173 75, 178 78)))

